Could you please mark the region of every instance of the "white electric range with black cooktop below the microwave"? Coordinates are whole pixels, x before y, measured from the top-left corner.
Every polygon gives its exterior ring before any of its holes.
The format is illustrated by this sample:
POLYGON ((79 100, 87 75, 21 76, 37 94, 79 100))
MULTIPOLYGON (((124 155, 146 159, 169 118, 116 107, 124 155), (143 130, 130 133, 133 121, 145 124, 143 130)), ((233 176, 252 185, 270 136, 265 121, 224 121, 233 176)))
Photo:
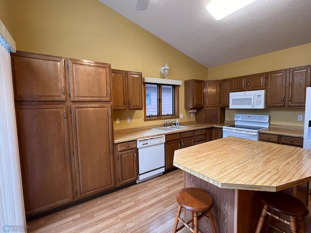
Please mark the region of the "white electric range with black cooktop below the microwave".
POLYGON ((223 127, 223 137, 232 136, 258 141, 258 131, 268 128, 269 122, 269 115, 235 114, 234 125, 223 127))

